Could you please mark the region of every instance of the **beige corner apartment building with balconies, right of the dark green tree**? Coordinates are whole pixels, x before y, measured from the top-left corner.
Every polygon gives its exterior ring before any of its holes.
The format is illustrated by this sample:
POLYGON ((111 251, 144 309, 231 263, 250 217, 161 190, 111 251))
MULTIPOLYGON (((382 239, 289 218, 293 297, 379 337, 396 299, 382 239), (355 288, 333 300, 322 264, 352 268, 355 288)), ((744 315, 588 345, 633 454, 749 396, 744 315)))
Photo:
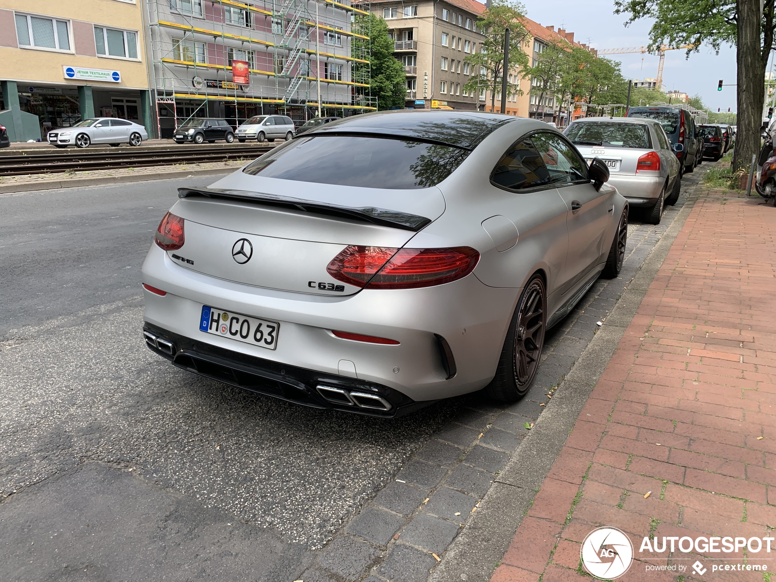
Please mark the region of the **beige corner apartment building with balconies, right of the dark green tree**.
POLYGON ((407 107, 482 109, 483 95, 467 92, 463 86, 472 74, 464 58, 480 50, 485 38, 476 28, 484 4, 475 0, 377 0, 371 6, 372 12, 386 19, 394 56, 404 64, 407 107))

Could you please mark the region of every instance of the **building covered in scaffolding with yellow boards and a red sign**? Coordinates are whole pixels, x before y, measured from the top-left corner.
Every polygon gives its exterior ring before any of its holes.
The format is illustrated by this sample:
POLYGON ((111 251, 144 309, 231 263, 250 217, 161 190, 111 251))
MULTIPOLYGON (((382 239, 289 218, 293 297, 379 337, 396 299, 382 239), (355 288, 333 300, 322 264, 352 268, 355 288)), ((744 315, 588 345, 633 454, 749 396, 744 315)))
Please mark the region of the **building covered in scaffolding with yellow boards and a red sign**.
POLYGON ((368 4, 146 0, 145 8, 160 137, 191 117, 236 127, 260 114, 303 122, 376 110, 368 4))

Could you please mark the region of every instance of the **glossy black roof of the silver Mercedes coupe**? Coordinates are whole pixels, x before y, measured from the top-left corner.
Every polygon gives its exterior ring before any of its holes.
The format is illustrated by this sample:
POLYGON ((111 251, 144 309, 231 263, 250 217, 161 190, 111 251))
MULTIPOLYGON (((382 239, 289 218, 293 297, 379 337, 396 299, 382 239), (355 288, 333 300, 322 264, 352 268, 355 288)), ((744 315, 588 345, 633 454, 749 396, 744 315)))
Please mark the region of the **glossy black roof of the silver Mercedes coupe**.
POLYGON ((372 133, 391 137, 437 142, 474 149, 497 127, 517 118, 497 113, 410 109, 381 111, 346 117, 305 132, 305 136, 342 133, 372 133))

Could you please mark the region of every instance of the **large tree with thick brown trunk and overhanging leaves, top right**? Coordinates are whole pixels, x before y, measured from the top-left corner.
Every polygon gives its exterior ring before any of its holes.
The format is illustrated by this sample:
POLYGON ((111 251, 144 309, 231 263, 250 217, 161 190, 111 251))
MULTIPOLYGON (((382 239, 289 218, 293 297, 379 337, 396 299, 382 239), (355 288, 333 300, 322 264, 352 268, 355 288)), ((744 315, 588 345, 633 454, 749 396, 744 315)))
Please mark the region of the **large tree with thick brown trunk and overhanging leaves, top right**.
POLYGON ((654 19, 650 43, 694 44, 688 56, 704 43, 717 51, 724 43, 736 46, 739 132, 733 165, 748 168, 760 148, 763 79, 776 32, 774 0, 615 0, 615 13, 629 14, 628 23, 654 19))

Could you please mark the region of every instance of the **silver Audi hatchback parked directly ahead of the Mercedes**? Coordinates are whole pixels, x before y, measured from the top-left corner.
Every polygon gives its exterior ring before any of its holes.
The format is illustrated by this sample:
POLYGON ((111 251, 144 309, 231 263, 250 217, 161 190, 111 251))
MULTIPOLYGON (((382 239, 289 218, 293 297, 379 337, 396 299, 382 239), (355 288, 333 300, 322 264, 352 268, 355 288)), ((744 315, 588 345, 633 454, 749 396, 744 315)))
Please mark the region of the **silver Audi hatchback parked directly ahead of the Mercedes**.
POLYGON ((587 117, 571 123, 565 133, 588 163, 593 158, 604 161, 610 173, 608 183, 630 206, 645 208, 650 223, 660 223, 664 204, 676 203, 681 189, 680 162, 659 122, 587 117))

